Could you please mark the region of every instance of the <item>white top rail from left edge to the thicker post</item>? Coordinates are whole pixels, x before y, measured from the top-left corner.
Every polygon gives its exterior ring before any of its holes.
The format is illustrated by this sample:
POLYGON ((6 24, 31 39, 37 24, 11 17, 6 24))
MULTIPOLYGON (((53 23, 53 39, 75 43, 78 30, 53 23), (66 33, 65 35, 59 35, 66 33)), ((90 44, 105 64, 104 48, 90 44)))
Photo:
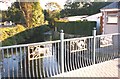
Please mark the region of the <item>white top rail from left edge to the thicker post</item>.
POLYGON ((46 42, 38 42, 38 43, 31 43, 31 44, 21 44, 21 45, 4 46, 4 47, 0 47, 0 49, 26 47, 26 46, 30 46, 30 45, 40 45, 40 44, 42 45, 42 44, 50 44, 50 43, 58 43, 58 42, 60 42, 60 40, 56 40, 56 41, 46 41, 46 42))

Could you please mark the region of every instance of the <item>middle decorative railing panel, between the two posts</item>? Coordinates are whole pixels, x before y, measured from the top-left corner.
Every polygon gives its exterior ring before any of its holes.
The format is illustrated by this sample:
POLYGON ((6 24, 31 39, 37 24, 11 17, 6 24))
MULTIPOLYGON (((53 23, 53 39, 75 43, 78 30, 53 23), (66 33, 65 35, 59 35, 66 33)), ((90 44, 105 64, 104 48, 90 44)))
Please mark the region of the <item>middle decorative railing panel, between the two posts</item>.
POLYGON ((71 53, 77 52, 77 51, 83 51, 83 50, 87 50, 87 40, 86 39, 70 41, 71 53))

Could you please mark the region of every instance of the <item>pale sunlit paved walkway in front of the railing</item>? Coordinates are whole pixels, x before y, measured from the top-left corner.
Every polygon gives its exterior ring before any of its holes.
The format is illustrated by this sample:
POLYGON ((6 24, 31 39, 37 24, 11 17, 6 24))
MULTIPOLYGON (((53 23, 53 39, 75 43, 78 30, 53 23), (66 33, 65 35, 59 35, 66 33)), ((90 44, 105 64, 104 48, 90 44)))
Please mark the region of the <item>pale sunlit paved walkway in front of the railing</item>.
POLYGON ((119 77, 120 58, 80 68, 54 77, 119 77), (118 62, 119 61, 119 62, 118 62))

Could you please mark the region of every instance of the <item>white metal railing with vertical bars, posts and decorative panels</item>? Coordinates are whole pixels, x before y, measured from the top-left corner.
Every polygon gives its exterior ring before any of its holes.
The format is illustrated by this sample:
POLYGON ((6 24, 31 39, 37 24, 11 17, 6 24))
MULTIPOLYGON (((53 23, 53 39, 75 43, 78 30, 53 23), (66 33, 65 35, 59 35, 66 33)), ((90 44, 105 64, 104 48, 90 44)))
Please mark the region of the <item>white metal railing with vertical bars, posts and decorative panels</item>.
POLYGON ((120 54, 120 34, 97 35, 0 47, 1 77, 51 77, 101 63, 120 54))

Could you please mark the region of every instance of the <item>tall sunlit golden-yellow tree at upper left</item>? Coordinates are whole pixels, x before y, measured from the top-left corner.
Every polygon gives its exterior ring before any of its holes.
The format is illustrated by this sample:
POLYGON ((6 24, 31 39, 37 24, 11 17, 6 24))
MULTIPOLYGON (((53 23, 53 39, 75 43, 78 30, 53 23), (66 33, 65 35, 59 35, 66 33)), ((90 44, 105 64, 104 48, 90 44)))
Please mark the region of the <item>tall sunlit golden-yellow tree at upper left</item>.
POLYGON ((26 26, 31 28, 44 23, 44 15, 39 2, 19 2, 26 26))

